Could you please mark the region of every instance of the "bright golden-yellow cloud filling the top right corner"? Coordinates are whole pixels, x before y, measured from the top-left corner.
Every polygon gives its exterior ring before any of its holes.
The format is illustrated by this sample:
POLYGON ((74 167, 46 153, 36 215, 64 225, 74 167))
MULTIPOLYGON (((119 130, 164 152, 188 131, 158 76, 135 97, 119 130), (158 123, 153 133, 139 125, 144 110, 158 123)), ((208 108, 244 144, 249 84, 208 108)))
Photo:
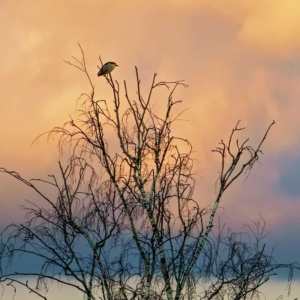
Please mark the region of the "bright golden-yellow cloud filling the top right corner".
POLYGON ((295 0, 252 1, 238 37, 246 46, 285 59, 300 46, 300 3, 295 0))

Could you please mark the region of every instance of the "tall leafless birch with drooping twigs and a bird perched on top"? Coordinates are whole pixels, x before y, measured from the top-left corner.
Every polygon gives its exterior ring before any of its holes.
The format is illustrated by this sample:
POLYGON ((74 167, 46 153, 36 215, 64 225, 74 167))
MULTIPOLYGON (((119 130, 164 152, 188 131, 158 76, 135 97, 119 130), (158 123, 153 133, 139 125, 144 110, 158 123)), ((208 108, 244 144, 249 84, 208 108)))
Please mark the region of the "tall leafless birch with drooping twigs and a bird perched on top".
MULTIPOLYGON (((229 140, 221 141, 214 150, 221 154, 217 196, 211 207, 202 208, 193 195, 192 145, 171 130, 182 114, 176 113, 181 101, 174 100, 174 93, 187 85, 182 80, 156 82, 154 74, 149 93, 143 96, 135 68, 134 97, 126 81, 123 97, 120 84, 109 74, 105 78, 111 99, 97 100, 82 49, 81 54, 82 60, 73 58, 67 63, 83 72, 91 92, 78 99, 79 119, 70 117, 64 126, 47 133, 59 137, 61 153, 69 147, 69 164, 66 168, 59 165, 60 181, 53 175, 49 181, 38 180, 53 187, 57 197, 43 194, 34 184, 37 180, 27 181, 14 171, 0 169, 34 189, 47 203, 44 207, 30 202, 30 208, 24 207, 27 222, 12 224, 2 233, 0 280, 21 284, 44 299, 41 289, 47 289, 49 281, 73 286, 87 299, 193 299, 193 275, 201 265, 201 254, 207 251, 221 197, 258 162, 275 122, 256 147, 248 139, 236 139, 244 129, 239 122, 229 140), (163 88, 167 96, 155 97, 156 90, 163 88), (114 139, 107 139, 109 135, 114 139), (40 258, 40 270, 21 273, 10 267, 11 272, 5 271, 3 264, 19 255, 40 258), (18 275, 37 278, 36 286, 18 275)), ((231 246, 234 256, 245 255, 236 244, 231 246)), ((216 275, 213 268, 210 272, 216 275)), ((252 278, 252 269, 247 272, 245 276, 252 278)), ((251 292, 251 288, 246 290, 251 292)))

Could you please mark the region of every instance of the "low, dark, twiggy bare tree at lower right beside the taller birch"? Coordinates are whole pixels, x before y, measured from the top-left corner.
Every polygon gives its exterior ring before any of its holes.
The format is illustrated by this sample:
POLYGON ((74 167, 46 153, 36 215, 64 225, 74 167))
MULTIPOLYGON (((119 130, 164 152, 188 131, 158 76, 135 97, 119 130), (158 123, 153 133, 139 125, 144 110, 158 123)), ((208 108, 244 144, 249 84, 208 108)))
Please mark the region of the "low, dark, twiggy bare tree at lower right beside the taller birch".
MULTIPOLYGON (((217 234, 212 232, 203 251, 203 265, 198 267, 198 280, 205 280, 201 299, 260 299, 259 287, 280 269, 289 269, 288 286, 294 264, 279 264, 273 248, 267 251, 266 222, 260 215, 253 225, 245 224, 242 232, 225 232, 219 222, 217 234)), ((197 274, 197 272, 196 272, 197 274)))

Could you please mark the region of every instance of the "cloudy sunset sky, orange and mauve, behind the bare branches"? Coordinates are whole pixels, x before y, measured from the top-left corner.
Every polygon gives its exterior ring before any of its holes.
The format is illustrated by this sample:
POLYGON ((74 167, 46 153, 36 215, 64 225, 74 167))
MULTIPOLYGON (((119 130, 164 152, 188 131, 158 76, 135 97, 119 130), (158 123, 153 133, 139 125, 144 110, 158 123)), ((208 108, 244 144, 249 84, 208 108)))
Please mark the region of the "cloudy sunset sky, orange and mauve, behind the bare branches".
MULTIPOLYGON (((176 130, 193 144, 201 170, 195 198, 204 206, 214 201, 220 167, 211 150, 238 120, 246 127, 240 138, 254 146, 275 120, 261 165, 226 192, 221 206, 236 228, 262 214, 278 260, 300 261, 299 20, 298 0, 2 0, 0 166, 28 179, 58 172, 57 141, 31 143, 75 115, 77 97, 89 91, 83 75, 63 62, 80 58, 80 43, 101 98, 108 93, 97 77, 99 55, 119 64, 113 76, 132 91, 134 66, 146 87, 155 72, 163 81, 185 79, 189 87, 176 95, 188 110, 176 130)), ((0 174, 0 226, 22 220, 18 205, 30 197, 0 174)), ((267 299, 288 299, 283 282, 268 292, 267 299)), ((296 296, 299 285, 290 299, 296 296)))

